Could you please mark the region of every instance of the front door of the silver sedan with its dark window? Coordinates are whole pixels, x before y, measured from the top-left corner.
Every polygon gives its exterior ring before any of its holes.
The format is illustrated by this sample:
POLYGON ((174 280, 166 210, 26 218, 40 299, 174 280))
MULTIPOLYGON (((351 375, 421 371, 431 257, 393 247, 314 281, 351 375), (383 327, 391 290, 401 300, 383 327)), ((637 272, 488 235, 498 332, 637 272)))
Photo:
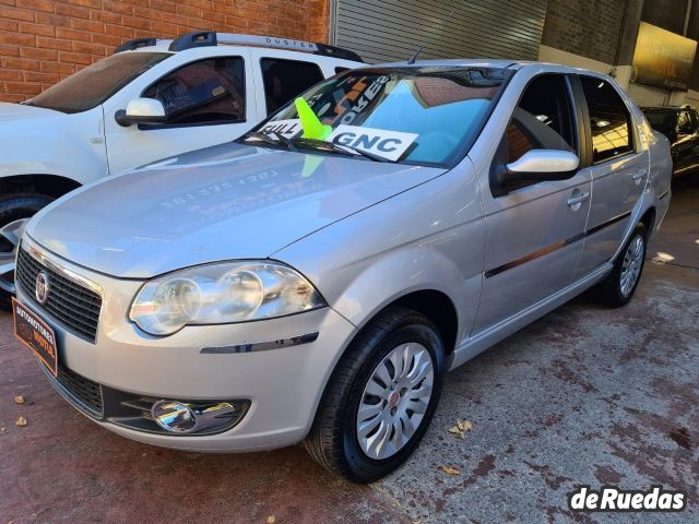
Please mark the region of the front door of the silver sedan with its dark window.
MULTIPOLYGON (((507 127, 496 163, 530 150, 578 153, 571 86, 564 74, 534 78, 507 127)), ((486 257, 483 295, 474 333, 484 331, 565 288, 582 251, 590 206, 590 174, 484 191, 486 257)))

